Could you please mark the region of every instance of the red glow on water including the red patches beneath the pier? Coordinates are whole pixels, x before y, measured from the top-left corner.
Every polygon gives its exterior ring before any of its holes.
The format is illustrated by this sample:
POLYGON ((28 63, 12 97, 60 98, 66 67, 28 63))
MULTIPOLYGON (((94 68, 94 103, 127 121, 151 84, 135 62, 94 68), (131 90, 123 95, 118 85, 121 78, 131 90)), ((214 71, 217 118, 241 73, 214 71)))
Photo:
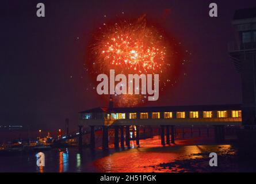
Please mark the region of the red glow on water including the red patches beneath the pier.
MULTIPOLYGON (((200 159, 203 152, 216 152, 229 149, 230 145, 200 145, 200 141, 212 144, 212 139, 177 140, 176 145, 161 145, 157 136, 154 139, 140 140, 140 148, 115 152, 95 160, 94 166, 100 172, 179 172, 182 166, 175 168, 159 167, 161 163, 175 160, 200 159), (191 144, 197 145, 191 145, 191 144), (198 155, 196 155, 198 154, 198 155)), ((131 141, 136 145, 136 141, 131 141)), ((132 145, 132 144, 131 144, 132 145)), ((206 163, 208 164, 208 162, 206 163)))

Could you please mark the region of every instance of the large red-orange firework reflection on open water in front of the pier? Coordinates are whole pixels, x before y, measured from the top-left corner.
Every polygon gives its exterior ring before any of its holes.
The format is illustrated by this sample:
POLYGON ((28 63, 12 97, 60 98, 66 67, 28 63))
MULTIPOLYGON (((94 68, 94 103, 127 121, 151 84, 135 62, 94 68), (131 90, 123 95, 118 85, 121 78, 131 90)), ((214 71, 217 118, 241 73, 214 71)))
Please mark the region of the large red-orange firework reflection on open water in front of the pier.
POLYGON ((208 168, 210 152, 217 152, 218 155, 227 154, 227 152, 228 155, 230 155, 230 153, 232 154, 230 145, 188 145, 139 148, 115 152, 114 154, 95 160, 94 166, 97 167, 100 172, 107 173, 179 172, 181 170, 186 171, 186 164, 190 162, 197 164, 198 167, 204 166, 208 168), (169 168, 169 163, 174 164, 170 164, 171 167, 169 168))

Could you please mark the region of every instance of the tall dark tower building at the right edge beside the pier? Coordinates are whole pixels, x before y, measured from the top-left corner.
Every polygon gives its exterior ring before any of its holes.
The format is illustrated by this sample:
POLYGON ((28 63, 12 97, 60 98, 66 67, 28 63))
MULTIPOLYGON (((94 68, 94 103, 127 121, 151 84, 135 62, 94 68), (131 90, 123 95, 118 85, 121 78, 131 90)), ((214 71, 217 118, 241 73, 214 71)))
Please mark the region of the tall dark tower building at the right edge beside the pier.
POLYGON ((229 53, 242 77, 242 118, 245 128, 256 125, 256 7, 236 10, 232 24, 236 40, 229 53))

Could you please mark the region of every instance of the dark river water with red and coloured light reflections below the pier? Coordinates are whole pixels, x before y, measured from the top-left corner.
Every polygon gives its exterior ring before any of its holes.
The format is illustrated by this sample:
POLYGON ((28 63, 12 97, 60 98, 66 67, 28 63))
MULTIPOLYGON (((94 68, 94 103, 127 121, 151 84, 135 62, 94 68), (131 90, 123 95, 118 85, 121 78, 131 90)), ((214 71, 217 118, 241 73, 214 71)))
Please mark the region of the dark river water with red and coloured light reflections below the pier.
MULTIPOLYGON (((140 141, 124 150, 95 151, 76 147, 45 151, 45 166, 38 167, 36 154, 0 156, 0 172, 255 172, 254 164, 240 162, 232 144, 215 145, 196 139, 162 147, 158 138, 140 141), (194 145, 189 145, 194 144, 194 145), (195 145, 196 144, 196 145, 195 145), (218 166, 209 166, 209 153, 216 152, 218 166)), ((110 146, 111 147, 111 146, 110 146)))

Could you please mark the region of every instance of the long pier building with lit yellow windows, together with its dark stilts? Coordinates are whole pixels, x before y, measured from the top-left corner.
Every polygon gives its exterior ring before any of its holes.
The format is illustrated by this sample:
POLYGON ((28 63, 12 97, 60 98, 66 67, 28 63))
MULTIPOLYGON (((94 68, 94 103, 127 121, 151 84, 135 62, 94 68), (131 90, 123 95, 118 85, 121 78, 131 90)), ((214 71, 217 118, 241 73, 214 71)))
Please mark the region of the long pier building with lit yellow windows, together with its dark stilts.
MULTIPOLYGON (((161 144, 165 145, 174 143, 175 126, 196 125, 207 127, 207 131, 208 127, 214 127, 215 139, 223 141, 226 125, 241 124, 242 110, 239 104, 114 108, 110 98, 109 107, 98 107, 79 113, 79 132, 82 132, 82 126, 90 127, 90 145, 93 148, 95 147, 95 127, 102 128, 102 147, 108 148, 108 129, 114 129, 114 145, 119 147, 119 138, 121 146, 124 146, 124 137, 125 144, 129 146, 131 126, 136 127, 137 145, 140 139, 139 127, 150 127, 151 132, 152 127, 161 129, 161 144)), ((82 133, 79 135, 82 136, 82 133)), ((82 141, 81 137, 80 140, 82 141)))

